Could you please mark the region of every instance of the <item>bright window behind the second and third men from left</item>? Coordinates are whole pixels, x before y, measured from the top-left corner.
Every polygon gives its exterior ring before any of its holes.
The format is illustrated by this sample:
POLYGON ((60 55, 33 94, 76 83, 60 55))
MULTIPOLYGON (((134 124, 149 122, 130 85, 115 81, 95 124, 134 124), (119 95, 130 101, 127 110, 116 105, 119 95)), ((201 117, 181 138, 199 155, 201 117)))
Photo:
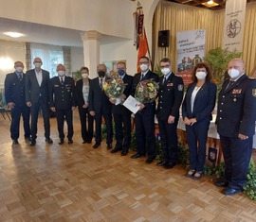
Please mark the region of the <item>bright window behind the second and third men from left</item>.
POLYGON ((50 73, 50 77, 56 77, 57 65, 64 64, 64 50, 63 47, 57 45, 31 43, 31 61, 39 57, 43 61, 42 69, 50 73))

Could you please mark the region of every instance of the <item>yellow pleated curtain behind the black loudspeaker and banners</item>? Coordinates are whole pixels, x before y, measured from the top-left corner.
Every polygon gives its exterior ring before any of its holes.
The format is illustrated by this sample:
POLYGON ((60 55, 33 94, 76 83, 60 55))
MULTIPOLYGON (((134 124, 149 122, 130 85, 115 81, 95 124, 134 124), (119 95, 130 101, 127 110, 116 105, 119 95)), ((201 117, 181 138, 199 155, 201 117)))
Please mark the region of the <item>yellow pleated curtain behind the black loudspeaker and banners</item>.
MULTIPOLYGON (((173 70, 176 64, 176 32, 206 29, 206 55, 207 52, 223 44, 225 11, 198 9, 181 4, 161 1, 155 9, 153 20, 153 61, 155 67, 159 60, 165 57, 165 49, 157 46, 158 31, 170 30, 170 47, 167 48, 166 57, 173 61, 173 70)), ((256 4, 247 5, 245 22, 245 37, 243 60, 247 65, 247 73, 256 65, 256 4), (249 6, 249 7, 248 7, 249 6)))

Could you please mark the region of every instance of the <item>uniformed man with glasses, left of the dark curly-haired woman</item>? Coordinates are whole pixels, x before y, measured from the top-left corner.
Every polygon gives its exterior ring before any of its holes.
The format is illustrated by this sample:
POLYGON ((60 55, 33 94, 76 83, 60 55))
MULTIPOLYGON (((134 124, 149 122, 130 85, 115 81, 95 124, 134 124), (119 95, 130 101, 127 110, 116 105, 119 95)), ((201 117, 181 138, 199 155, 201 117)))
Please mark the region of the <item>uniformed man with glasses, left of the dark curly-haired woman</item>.
POLYGON ((159 81, 158 105, 156 116, 161 137, 161 146, 164 159, 157 165, 167 169, 177 163, 177 123, 179 108, 183 99, 184 84, 181 77, 172 72, 171 60, 160 60, 160 69, 163 74, 159 81))

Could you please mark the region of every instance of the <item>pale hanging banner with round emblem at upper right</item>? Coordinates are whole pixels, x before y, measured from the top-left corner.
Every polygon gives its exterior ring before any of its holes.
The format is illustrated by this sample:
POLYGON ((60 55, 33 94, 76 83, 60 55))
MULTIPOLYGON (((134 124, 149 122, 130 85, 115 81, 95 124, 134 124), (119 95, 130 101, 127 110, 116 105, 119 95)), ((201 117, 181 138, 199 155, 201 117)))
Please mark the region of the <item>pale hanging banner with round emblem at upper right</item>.
POLYGON ((224 48, 243 50, 247 0, 227 0, 224 25, 224 48))

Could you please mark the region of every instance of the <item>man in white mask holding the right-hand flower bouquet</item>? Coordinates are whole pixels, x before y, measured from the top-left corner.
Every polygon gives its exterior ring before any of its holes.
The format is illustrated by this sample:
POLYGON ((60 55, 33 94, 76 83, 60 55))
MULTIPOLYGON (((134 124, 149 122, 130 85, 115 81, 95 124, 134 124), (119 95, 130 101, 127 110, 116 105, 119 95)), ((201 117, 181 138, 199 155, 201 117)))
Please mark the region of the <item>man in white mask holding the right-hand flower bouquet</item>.
MULTIPOLYGON (((141 73, 137 73, 133 80, 132 94, 135 95, 137 84, 141 80, 153 79, 158 82, 157 74, 149 70, 150 60, 147 57, 139 59, 141 73)), ((137 154, 131 158, 137 159, 148 154, 146 163, 155 160, 155 101, 140 104, 140 110, 135 115, 137 154)))

